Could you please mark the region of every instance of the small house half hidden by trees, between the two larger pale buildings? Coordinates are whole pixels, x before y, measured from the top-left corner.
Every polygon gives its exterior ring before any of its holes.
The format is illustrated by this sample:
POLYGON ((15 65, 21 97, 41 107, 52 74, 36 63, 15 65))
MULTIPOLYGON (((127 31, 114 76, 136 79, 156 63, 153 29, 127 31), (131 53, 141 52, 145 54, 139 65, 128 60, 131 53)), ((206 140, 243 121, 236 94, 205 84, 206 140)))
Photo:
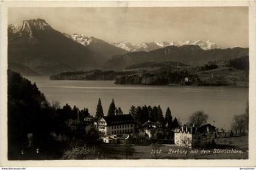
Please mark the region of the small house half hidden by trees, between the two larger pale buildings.
POLYGON ((157 138, 157 133, 163 132, 160 122, 146 121, 142 124, 140 132, 144 132, 149 138, 157 138))

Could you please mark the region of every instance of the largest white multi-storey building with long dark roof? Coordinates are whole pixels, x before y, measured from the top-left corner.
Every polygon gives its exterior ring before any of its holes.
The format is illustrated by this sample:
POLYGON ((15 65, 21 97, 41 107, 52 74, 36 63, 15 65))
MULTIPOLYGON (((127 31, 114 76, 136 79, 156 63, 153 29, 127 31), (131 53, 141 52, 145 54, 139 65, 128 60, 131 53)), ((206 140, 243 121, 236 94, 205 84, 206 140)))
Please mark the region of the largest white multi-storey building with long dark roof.
POLYGON ((133 133, 135 122, 131 115, 104 116, 98 121, 98 131, 104 135, 133 133))

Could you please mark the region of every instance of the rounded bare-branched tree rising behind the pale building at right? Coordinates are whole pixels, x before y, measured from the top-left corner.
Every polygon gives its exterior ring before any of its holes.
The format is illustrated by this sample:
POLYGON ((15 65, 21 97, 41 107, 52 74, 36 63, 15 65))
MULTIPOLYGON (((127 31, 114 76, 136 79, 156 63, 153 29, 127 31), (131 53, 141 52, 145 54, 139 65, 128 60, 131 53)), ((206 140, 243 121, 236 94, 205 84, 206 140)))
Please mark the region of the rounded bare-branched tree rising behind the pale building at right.
POLYGON ((207 123, 208 115, 206 115, 202 110, 194 112, 190 116, 190 124, 194 124, 195 127, 200 127, 207 123))

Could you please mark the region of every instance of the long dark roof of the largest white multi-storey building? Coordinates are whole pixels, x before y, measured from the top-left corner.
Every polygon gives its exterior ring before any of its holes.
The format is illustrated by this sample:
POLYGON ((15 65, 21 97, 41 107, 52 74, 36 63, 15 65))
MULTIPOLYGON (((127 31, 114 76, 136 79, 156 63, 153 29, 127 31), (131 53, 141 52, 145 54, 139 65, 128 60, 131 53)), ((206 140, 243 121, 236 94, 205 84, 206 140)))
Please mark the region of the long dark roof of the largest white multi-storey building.
POLYGON ((107 126, 134 123, 134 119, 132 118, 132 116, 130 114, 116 115, 116 116, 104 116, 102 118, 107 122, 107 126))

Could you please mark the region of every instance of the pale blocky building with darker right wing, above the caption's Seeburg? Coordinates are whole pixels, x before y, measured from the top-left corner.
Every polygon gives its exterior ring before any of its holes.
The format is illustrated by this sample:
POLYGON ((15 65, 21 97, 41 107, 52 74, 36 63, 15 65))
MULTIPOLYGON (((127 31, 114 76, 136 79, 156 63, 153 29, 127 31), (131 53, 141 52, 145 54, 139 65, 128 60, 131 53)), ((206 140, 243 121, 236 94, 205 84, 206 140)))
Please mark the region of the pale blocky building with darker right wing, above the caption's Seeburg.
POLYGON ((205 146, 212 144, 215 137, 216 128, 211 124, 205 124, 198 128, 182 126, 174 130, 174 144, 177 146, 205 146))

